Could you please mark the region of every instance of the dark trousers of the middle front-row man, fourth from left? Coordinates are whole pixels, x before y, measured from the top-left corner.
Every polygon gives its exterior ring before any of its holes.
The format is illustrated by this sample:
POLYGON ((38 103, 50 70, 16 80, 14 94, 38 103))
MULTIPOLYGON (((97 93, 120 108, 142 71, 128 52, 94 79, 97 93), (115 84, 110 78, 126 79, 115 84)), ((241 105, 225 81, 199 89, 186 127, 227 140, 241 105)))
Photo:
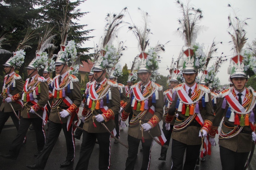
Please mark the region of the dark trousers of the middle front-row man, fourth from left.
POLYGON ((89 159, 96 139, 99 142, 99 170, 110 168, 110 134, 105 133, 88 133, 83 130, 83 142, 81 144, 80 156, 75 170, 87 170, 89 159))

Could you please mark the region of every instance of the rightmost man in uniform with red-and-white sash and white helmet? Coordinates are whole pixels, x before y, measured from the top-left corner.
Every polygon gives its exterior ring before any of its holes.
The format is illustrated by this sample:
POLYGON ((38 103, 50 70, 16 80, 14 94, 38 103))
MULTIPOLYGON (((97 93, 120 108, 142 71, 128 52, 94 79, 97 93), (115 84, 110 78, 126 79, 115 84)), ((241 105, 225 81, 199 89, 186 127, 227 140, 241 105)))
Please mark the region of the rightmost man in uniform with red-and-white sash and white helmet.
MULTIPOLYGON (((211 144, 216 146, 214 137, 224 116, 219 132, 222 169, 246 169, 244 166, 247 157, 250 151, 253 152, 256 140, 256 94, 251 87, 245 87, 248 77, 242 63, 243 56, 238 54, 231 60, 234 63, 230 74, 233 87, 219 93, 218 107, 209 136, 211 144)), ((247 69, 249 71, 250 68, 247 69)))

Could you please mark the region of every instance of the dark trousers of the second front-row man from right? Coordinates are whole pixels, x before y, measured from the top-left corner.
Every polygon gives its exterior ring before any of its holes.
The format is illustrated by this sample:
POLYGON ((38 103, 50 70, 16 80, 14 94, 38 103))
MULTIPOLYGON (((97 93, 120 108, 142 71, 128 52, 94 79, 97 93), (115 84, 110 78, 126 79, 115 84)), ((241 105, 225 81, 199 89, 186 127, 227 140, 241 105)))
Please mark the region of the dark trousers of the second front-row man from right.
POLYGON ((172 167, 171 170, 194 170, 197 157, 201 148, 200 145, 187 145, 172 139, 172 167), (183 157, 186 150, 186 158, 183 166, 183 157), (183 168, 182 168, 183 166, 183 168))

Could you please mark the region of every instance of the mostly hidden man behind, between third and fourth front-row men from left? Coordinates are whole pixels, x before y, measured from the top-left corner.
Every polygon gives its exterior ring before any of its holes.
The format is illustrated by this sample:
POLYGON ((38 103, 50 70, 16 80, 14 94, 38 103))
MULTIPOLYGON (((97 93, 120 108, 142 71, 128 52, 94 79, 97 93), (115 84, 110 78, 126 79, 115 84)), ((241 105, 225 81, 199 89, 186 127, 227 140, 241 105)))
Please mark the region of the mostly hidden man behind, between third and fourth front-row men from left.
MULTIPOLYGON (((86 103, 86 100, 89 97, 89 84, 94 81, 93 70, 90 71, 88 77, 89 77, 89 82, 86 83, 86 89, 85 89, 85 92, 84 92, 84 99, 83 99, 83 102, 82 102, 82 107, 84 107, 84 105, 86 103)), ((83 128, 83 126, 84 126, 84 122, 81 121, 80 124, 79 124, 79 127, 83 128)), ((76 139, 80 139, 82 134, 83 134, 83 130, 77 128, 75 130, 74 137, 76 139)))

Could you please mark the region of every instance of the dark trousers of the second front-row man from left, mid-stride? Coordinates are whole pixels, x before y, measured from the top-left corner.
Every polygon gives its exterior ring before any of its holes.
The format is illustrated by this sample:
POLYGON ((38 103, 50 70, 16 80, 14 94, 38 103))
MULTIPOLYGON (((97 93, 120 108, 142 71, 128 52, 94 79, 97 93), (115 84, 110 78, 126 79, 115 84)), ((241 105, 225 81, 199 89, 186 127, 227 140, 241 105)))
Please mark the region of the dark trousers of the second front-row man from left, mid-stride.
POLYGON ((11 144, 10 153, 13 157, 18 157, 20 148, 28 131, 30 124, 34 126, 35 136, 37 138, 37 149, 41 151, 45 143, 45 133, 43 120, 41 118, 20 118, 18 133, 11 144))

